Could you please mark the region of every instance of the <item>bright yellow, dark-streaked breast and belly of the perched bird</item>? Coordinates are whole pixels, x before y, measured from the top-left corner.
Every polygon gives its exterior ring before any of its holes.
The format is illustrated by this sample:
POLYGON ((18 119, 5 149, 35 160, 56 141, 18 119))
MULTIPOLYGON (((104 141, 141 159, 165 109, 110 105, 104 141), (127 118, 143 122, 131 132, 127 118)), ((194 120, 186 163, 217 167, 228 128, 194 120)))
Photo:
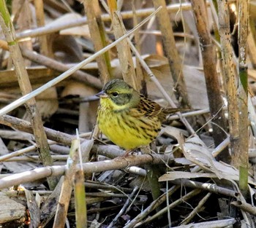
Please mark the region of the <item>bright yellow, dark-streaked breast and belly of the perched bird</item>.
POLYGON ((157 117, 140 115, 135 108, 116 110, 107 101, 101 102, 99 106, 97 123, 110 141, 124 149, 150 144, 161 127, 157 117))

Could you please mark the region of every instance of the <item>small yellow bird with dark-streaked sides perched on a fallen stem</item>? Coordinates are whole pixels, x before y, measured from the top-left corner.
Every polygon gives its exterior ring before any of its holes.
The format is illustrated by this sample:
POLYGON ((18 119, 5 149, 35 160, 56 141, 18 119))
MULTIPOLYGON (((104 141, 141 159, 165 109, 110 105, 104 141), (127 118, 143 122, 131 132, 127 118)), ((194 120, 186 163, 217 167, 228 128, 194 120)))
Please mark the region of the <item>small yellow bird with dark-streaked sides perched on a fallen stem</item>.
POLYGON ((99 130, 114 144, 126 150, 122 157, 154 141, 167 114, 184 110, 162 108, 122 79, 107 82, 97 96, 99 130))

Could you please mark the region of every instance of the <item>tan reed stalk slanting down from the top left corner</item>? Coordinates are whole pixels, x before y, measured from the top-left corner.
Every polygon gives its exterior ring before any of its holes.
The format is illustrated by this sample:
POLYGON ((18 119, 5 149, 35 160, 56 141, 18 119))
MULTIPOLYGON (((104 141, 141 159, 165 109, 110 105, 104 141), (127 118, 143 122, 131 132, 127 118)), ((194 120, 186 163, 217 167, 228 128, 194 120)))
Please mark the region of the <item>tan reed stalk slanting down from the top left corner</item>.
MULTIPOLYGON (((26 71, 26 66, 20 52, 20 47, 18 46, 18 42, 16 42, 14 25, 10 19, 10 14, 5 1, 3 0, 0 1, 0 24, 9 45, 10 55, 12 58, 12 63, 15 67, 15 73, 18 77, 21 93, 22 95, 29 94, 32 91, 29 75, 26 71)), ((37 103, 34 98, 26 101, 26 111, 28 112, 31 120, 35 141, 38 145, 37 151, 39 152, 40 159, 42 160, 43 165, 52 165, 53 160, 50 157, 50 147, 48 145, 45 130, 42 125, 42 119, 37 109, 37 103)), ((48 178, 48 184, 50 189, 53 189, 57 184, 57 179, 48 178)))

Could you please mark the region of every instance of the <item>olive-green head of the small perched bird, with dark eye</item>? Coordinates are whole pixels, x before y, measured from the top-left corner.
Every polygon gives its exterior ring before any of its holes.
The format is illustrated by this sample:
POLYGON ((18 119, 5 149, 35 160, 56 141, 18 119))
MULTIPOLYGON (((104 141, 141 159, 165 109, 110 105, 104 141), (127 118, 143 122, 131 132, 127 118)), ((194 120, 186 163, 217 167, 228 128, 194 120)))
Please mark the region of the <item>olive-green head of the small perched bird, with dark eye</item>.
POLYGON ((108 106, 116 111, 133 108, 140 102, 140 94, 121 79, 113 79, 97 93, 102 106, 108 106))

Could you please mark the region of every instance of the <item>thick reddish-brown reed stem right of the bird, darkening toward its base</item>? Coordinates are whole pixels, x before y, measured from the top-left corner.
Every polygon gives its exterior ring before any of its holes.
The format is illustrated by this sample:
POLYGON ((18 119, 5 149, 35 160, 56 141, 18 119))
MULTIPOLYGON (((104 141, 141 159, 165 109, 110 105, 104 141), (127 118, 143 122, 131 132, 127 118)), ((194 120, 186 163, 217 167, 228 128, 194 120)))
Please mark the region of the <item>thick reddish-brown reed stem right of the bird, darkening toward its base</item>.
MULTIPOLYGON (((192 9, 199 35, 200 50, 203 57, 203 71, 206 79, 206 89, 208 102, 211 111, 211 122, 213 125, 214 144, 218 146, 226 138, 227 130, 221 87, 219 86, 219 76, 217 74, 217 52, 211 42, 210 28, 208 27, 206 6, 203 0, 192 0, 192 9), (225 131, 224 131, 225 130, 225 131)), ((229 163, 230 155, 228 150, 218 157, 219 160, 229 163)))

